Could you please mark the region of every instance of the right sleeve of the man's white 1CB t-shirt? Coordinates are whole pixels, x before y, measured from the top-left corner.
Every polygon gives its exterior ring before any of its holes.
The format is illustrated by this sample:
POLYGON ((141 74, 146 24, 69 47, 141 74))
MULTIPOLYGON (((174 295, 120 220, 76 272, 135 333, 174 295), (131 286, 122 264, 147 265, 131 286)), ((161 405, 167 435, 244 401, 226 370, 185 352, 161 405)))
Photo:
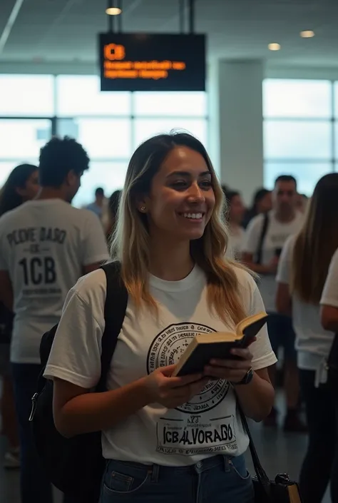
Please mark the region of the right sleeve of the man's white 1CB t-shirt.
POLYGON ((86 211, 86 225, 83 235, 82 265, 103 262, 109 259, 106 236, 95 213, 86 211))

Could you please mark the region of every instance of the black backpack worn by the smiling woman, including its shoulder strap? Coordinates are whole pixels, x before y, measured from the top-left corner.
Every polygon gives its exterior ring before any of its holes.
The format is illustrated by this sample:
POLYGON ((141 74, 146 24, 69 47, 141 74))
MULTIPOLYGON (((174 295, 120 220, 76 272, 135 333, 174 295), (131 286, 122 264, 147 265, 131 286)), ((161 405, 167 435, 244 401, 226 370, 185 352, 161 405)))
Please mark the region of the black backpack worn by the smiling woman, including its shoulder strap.
MULTIPOLYGON (((120 276, 119 263, 102 266, 106 273, 105 330, 102 336, 101 378, 95 392, 106 390, 111 358, 121 331, 128 303, 127 290, 120 276)), ((40 357, 44 367, 48 360, 57 325, 41 340, 40 357)), ((105 460, 101 449, 101 432, 66 439, 53 421, 53 382, 39 376, 37 392, 32 398, 31 417, 36 448, 47 476, 58 489, 79 502, 98 502, 105 460)))

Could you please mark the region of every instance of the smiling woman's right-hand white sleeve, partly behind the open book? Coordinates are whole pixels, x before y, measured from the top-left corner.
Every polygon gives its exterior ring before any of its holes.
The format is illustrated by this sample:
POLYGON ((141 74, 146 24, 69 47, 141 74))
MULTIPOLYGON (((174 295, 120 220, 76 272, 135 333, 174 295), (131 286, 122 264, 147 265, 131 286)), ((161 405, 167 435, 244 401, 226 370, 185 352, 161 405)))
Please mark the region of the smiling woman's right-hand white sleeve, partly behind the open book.
MULTIPOLYGON (((254 280, 252 280, 252 294, 250 300, 250 315, 265 313, 265 306, 254 280)), ((261 328, 257 334, 257 340, 250 345, 252 352, 252 369, 260 370, 265 367, 270 367, 277 362, 275 353, 272 351, 269 335, 267 333, 267 325, 261 328)))

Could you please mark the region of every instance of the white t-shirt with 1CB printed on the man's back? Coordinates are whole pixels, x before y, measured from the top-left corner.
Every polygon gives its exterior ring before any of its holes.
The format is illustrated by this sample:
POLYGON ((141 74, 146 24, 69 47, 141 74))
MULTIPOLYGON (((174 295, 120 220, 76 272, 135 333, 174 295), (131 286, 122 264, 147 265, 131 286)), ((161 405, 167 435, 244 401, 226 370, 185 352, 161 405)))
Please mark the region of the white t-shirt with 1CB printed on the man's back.
POLYGON ((58 322, 83 265, 108 259, 97 216, 61 199, 32 200, 0 218, 0 269, 14 290, 11 361, 39 363, 41 337, 58 322))

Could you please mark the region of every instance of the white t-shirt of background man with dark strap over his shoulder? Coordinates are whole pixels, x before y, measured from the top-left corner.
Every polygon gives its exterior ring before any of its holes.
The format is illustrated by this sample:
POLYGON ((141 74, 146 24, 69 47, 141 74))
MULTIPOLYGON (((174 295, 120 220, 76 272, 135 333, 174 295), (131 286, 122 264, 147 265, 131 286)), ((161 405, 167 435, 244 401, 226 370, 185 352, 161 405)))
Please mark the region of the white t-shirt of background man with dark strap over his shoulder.
MULTIPOLYGON (((274 258, 276 251, 281 250, 287 238, 296 234, 302 225, 302 213, 297 213, 292 222, 282 223, 275 218, 275 213, 270 211, 269 224, 267 232, 262 243, 262 265, 267 265, 274 258)), ((245 234, 245 243, 243 245, 244 253, 255 255, 258 251, 260 236, 262 235, 262 226, 264 224, 264 215, 257 215, 252 218, 245 234)), ((276 282, 274 275, 262 275, 259 281, 260 293, 264 300, 265 308, 268 313, 275 313, 276 282)))

